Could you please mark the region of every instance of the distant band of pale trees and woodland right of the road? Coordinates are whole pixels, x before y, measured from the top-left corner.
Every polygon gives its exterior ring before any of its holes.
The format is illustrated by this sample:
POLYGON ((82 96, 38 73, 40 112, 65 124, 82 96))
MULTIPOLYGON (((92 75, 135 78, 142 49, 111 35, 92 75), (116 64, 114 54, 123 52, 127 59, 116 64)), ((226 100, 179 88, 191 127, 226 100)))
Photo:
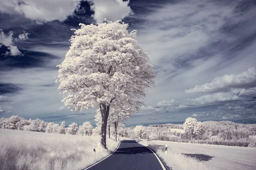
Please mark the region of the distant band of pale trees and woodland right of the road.
POLYGON ((148 127, 127 127, 127 134, 126 137, 133 139, 140 137, 142 139, 172 142, 256 147, 256 141, 248 137, 249 135, 256 135, 256 125, 230 121, 198 122, 195 118, 188 118, 183 125, 165 124, 149 125, 148 127), (173 131, 172 128, 184 129, 185 133, 173 131), (137 133, 138 131, 140 133, 137 133))

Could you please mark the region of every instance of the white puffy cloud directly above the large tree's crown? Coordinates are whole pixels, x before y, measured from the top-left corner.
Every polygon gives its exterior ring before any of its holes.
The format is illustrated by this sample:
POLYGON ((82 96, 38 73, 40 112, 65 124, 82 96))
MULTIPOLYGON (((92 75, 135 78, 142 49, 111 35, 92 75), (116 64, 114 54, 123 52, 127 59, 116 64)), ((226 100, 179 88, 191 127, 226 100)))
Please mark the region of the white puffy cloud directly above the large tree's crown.
POLYGON ((130 6, 128 6, 130 0, 90 0, 93 2, 91 6, 95 11, 93 18, 97 23, 101 23, 105 18, 107 20, 123 19, 129 14, 133 14, 130 6))

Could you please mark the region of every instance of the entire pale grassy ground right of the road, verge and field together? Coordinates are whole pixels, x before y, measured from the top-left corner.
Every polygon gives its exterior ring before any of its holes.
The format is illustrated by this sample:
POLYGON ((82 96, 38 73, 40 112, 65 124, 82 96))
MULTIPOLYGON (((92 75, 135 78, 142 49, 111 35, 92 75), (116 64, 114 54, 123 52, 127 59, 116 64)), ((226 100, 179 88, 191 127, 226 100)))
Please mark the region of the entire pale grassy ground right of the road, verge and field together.
POLYGON ((148 141, 148 145, 172 170, 256 170, 256 148, 212 144, 148 141), (165 155, 165 145, 168 150, 165 155), (182 164, 180 163, 182 162, 182 164))

